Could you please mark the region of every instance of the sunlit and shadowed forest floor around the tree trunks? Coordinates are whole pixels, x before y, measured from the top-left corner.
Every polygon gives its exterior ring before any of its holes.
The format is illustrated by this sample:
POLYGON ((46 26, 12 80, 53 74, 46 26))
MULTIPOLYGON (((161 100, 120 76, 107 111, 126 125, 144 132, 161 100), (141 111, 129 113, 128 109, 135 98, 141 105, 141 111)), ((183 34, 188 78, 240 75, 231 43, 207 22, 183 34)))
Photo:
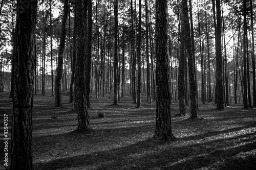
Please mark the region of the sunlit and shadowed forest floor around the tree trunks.
MULTIPOLYGON (((77 114, 62 93, 62 107, 54 107, 54 96, 34 95, 34 169, 256 169, 256 110, 231 105, 216 110, 213 103, 199 102, 199 119, 179 113, 172 105, 172 128, 176 141, 160 142, 155 130, 156 103, 136 108, 131 96, 113 106, 109 95, 91 98, 89 109, 93 133, 80 134, 77 114), (105 113, 98 118, 98 113, 105 113), (51 118, 55 116, 56 118, 51 118)), ((12 103, 9 93, 0 93, 1 168, 3 166, 3 115, 8 114, 11 136, 12 103)), ((10 140, 8 143, 10 154, 10 140)), ((9 157, 10 163, 10 157, 9 157)))

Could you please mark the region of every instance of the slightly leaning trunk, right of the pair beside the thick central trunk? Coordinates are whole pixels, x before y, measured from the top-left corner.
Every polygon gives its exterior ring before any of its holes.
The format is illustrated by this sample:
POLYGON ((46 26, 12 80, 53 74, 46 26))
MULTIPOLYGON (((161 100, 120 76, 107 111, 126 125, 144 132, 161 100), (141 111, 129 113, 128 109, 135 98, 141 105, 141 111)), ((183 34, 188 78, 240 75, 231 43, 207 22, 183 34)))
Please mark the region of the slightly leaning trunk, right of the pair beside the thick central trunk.
POLYGON ((187 57, 188 57, 190 118, 198 118, 197 99, 196 99, 196 79, 195 79, 195 74, 194 74, 195 73, 194 72, 195 65, 194 65, 194 58, 193 58, 193 53, 192 53, 192 49, 191 49, 191 37, 190 37, 190 28, 189 28, 187 0, 182 0, 181 31, 182 31, 181 34, 184 34, 185 38, 186 38, 185 44, 186 44, 187 57))

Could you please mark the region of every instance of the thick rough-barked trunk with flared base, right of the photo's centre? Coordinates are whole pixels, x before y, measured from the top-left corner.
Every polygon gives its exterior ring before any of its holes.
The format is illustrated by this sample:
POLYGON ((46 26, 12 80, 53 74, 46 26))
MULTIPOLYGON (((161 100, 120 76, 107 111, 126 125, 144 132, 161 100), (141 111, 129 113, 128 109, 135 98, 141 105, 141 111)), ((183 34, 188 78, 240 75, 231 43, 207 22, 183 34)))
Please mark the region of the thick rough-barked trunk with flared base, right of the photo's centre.
POLYGON ((167 53, 167 0, 156 1, 157 109, 155 138, 175 140, 170 117, 170 88, 167 53))

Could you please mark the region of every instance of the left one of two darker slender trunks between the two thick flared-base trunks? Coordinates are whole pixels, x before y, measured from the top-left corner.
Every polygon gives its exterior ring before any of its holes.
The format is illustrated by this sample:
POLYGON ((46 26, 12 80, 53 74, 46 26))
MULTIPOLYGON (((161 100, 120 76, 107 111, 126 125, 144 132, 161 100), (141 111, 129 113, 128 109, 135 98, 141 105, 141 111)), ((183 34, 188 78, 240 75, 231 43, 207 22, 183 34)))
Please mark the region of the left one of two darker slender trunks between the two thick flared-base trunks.
POLYGON ((115 20, 115 46, 114 46, 114 105, 117 105, 118 99, 117 99, 117 91, 118 91, 118 79, 117 79, 117 68, 118 68, 118 57, 117 57, 117 36, 118 36, 118 0, 115 0, 115 5, 114 5, 114 20, 115 20))

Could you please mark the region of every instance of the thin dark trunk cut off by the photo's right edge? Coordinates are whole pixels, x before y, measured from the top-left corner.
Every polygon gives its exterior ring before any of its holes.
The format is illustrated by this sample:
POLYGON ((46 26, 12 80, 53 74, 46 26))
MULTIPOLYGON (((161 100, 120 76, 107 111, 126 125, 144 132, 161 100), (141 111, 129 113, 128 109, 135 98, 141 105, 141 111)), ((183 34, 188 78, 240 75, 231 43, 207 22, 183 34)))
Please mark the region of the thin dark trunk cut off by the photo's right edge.
POLYGON ((253 91, 253 107, 256 107, 256 77, 255 77, 255 45, 254 45, 254 31, 253 31, 253 11, 252 11, 252 0, 250 0, 250 17, 251 17, 251 39, 252 39, 252 91, 253 91))

